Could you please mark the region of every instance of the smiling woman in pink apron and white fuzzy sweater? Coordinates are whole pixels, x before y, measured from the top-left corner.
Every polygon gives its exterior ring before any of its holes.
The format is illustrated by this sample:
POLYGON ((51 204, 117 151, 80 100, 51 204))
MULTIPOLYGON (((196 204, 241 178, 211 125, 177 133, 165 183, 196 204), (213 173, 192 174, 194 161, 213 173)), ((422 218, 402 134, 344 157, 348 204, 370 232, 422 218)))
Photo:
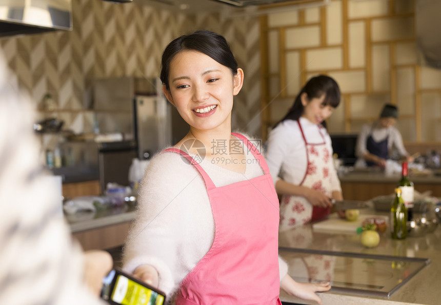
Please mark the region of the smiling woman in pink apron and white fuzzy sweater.
POLYGON ((176 38, 163 53, 161 79, 190 131, 151 160, 125 270, 178 305, 280 304, 281 279, 290 294, 320 303, 314 292, 329 283, 299 289, 278 258, 278 202, 265 159, 231 132, 244 72, 225 38, 209 31, 176 38))

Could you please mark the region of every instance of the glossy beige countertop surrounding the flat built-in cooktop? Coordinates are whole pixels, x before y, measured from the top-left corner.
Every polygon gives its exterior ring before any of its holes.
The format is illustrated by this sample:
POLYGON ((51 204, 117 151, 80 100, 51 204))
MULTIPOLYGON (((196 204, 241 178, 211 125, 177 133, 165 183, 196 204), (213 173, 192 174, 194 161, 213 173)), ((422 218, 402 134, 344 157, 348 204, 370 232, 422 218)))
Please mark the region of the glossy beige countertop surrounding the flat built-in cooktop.
MULTIPOLYGON (((373 210, 362 210, 365 214, 386 215, 376 213, 373 210)), ((337 252, 351 256, 356 255, 373 255, 382 256, 406 256, 414 258, 430 259, 429 265, 423 267, 407 282, 399 287, 395 292, 388 296, 372 295, 367 293, 349 293, 330 291, 319 293, 323 304, 426 304, 435 305, 441 301, 441 226, 438 226, 434 232, 426 234, 423 237, 408 237, 405 240, 393 240, 390 238, 389 229, 380 234, 380 243, 376 248, 368 249, 360 243, 360 235, 340 234, 337 232, 320 232, 315 231, 312 225, 306 225, 290 231, 281 232, 279 234, 279 246, 287 248, 304 249, 306 251, 326 251, 337 252)), ((300 250, 302 251, 302 250, 300 250)), ((280 251, 280 256, 288 261, 290 274, 300 272, 298 267, 293 266, 292 257, 280 251), (284 257, 285 256, 285 257, 284 257), (295 268, 295 270, 293 270, 295 268)), ((424 266, 424 265, 423 265, 424 266)), ((331 268, 332 269, 332 268, 331 268)), ((309 270, 309 269, 308 269, 309 270)), ((333 269, 334 273, 337 269, 333 269)), ((320 272, 320 270, 318 270, 320 272)), ((341 270, 340 270, 341 272, 341 270)), ((349 272, 345 269, 344 272, 349 272)), ((355 274, 350 273, 350 276, 355 274)), ((350 277, 349 276, 349 277, 350 277)), ((373 280, 375 282, 375 279, 373 280)), ((332 282, 332 274, 331 274, 332 282)), ((283 291, 280 293, 282 301, 289 301, 300 304, 315 304, 288 296, 283 291)))

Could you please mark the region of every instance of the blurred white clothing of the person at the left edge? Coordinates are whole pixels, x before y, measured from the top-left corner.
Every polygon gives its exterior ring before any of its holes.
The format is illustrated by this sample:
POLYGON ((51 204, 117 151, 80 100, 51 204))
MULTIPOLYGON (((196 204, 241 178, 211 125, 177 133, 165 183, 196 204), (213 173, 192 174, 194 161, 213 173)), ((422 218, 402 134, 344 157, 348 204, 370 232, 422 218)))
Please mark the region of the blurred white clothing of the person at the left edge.
POLYGON ((0 55, 0 304, 98 305, 85 286, 60 198, 38 162, 28 96, 0 55))

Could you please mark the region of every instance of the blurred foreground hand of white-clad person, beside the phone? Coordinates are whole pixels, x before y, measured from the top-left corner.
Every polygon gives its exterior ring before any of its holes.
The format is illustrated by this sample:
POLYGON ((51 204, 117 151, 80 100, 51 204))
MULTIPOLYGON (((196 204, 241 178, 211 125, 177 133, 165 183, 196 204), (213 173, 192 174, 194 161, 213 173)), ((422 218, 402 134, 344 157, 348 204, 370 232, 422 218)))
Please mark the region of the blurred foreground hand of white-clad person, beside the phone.
POLYGON ((84 278, 89 289, 99 296, 103 287, 103 278, 113 267, 109 252, 92 250, 84 253, 84 278))

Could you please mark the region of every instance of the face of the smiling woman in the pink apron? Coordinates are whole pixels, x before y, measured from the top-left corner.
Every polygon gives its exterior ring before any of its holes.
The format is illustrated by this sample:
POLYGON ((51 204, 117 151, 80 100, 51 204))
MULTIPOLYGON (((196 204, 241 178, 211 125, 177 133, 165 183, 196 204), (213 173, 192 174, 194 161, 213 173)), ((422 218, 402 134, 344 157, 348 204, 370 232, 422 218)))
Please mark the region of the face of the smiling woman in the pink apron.
POLYGON ((233 96, 243 84, 243 71, 231 70, 210 56, 192 50, 176 54, 170 62, 167 96, 183 119, 194 129, 231 129, 233 96))

